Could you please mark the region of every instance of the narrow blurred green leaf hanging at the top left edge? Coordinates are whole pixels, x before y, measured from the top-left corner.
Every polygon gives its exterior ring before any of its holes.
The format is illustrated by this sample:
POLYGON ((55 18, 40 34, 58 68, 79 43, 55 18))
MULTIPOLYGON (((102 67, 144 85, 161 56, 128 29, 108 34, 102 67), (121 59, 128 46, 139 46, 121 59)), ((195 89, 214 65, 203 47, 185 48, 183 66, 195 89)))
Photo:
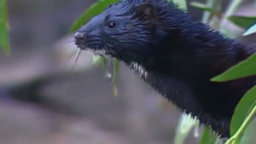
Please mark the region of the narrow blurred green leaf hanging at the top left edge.
POLYGON ((6 54, 10 54, 8 30, 9 25, 6 0, 0 0, 0 47, 2 47, 6 54))

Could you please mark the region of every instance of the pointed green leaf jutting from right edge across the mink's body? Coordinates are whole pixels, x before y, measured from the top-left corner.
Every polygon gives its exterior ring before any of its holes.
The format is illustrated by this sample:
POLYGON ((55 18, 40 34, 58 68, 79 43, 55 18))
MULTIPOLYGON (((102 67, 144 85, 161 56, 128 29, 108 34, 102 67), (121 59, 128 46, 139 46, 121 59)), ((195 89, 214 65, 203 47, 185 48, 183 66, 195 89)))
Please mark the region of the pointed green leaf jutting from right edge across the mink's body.
POLYGON ((256 53, 235 66, 232 66, 222 74, 212 78, 211 81, 225 82, 254 74, 256 74, 256 53))

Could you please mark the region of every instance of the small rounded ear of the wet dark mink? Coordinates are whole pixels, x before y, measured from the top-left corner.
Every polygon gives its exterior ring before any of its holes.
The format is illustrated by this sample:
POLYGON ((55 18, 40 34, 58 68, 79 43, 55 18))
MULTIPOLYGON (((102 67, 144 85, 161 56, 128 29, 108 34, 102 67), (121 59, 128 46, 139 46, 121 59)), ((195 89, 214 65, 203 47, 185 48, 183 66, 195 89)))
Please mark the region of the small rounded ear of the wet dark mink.
POLYGON ((156 8, 149 2, 143 2, 136 6, 136 15, 144 20, 152 20, 156 17, 156 8))

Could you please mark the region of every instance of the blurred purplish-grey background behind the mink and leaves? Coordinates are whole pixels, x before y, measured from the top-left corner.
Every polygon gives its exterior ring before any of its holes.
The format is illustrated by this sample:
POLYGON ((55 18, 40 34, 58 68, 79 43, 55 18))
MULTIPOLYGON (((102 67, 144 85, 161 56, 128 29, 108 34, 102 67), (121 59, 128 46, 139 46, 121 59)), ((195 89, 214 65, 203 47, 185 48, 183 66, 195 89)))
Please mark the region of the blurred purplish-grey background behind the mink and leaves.
MULTIPOLYGON (((68 29, 93 2, 8 0, 11 55, 0 52, 0 144, 172 144, 181 113, 129 68, 120 65, 118 96, 102 67, 91 66, 91 54, 83 52, 71 73, 68 29)), ((255 7, 244 0, 236 13, 255 16, 255 7)), ((188 12, 202 17, 195 8, 188 12)), ((227 25, 238 40, 255 42, 227 25)), ((191 131, 186 143, 197 142, 191 131)))

